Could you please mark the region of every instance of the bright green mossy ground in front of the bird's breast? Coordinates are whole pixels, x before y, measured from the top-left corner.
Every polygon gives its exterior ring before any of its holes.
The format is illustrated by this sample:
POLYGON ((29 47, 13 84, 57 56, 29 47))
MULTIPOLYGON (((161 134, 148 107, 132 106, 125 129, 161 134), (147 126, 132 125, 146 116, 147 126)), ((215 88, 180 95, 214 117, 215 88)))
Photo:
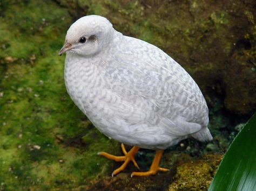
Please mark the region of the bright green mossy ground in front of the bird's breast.
POLYGON ((58 56, 71 23, 68 11, 52 1, 27 1, 10 2, 3 13, 4 18, 0 17, 2 187, 68 188, 69 184, 72 187, 85 184, 106 173, 104 166, 111 161, 100 158, 97 152, 112 152, 116 148, 113 140, 89 126, 90 134, 97 136, 96 145, 89 144, 80 151, 66 142, 77 135, 86 135, 88 130, 86 117, 66 93, 64 57, 58 56), (14 15, 13 11, 21 14, 14 15), (63 135, 63 142, 56 135, 63 135))

